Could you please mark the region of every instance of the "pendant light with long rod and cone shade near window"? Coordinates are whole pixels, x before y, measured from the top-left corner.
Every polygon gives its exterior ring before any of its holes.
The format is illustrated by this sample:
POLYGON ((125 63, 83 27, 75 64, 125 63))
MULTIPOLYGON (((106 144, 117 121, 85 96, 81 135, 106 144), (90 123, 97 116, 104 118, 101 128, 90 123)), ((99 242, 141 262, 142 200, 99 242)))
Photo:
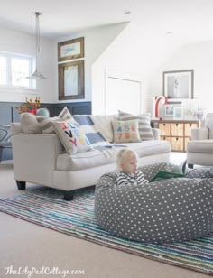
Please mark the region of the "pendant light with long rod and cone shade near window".
POLYGON ((40 12, 35 12, 35 34, 36 34, 36 52, 35 52, 35 71, 31 76, 26 79, 47 79, 45 78, 41 72, 38 70, 38 56, 40 53, 40 23, 39 16, 42 15, 40 12))

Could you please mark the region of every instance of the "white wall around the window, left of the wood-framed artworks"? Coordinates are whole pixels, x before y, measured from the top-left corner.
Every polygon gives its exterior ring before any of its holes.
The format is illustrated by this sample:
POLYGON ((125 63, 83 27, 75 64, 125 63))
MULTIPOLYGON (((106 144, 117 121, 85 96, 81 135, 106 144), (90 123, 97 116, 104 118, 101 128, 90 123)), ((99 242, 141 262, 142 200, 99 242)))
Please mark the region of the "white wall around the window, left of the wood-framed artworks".
MULTIPOLYGON (((35 56, 35 36, 23 32, 0 28, 0 51, 10 51, 18 54, 35 56)), ((41 97, 42 102, 52 102, 55 90, 55 77, 53 74, 55 61, 54 48, 51 40, 41 38, 41 52, 39 55, 39 69, 47 80, 38 81, 38 89, 9 89, 0 88, 0 101, 25 101, 25 97, 41 97)))

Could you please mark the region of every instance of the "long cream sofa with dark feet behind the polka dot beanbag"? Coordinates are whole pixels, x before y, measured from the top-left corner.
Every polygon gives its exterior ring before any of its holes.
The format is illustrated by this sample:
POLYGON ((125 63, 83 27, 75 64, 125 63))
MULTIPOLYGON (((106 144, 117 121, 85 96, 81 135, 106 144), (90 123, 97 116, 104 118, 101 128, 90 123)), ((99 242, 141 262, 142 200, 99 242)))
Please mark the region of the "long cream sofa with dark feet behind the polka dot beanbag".
MULTIPOLYGON (((59 117, 61 121, 70 120, 70 115, 61 117, 60 114, 59 117)), ((25 190, 26 182, 41 184, 64 190, 64 199, 70 200, 73 198, 73 190, 95 185, 101 175, 115 171, 115 155, 123 147, 138 153, 139 166, 170 160, 171 146, 160 140, 158 129, 151 129, 152 140, 112 144, 109 141, 111 139, 113 142, 115 138, 112 124, 116 116, 73 117, 88 140, 93 141, 89 145, 91 150, 75 153, 66 151, 59 134, 45 133, 44 129, 50 127, 50 123, 44 125, 42 117, 42 122, 39 122, 38 117, 25 114, 21 123, 12 124, 14 179, 19 190, 25 190), (103 140, 98 141, 97 137, 103 140)))

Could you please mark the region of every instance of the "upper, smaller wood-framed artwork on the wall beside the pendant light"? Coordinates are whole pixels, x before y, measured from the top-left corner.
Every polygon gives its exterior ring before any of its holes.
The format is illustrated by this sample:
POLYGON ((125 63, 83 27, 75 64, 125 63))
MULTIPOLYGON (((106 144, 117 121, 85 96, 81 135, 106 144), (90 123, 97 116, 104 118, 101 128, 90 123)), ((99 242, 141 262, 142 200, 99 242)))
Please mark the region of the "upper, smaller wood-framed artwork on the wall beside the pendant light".
POLYGON ((84 38, 58 43, 58 61, 73 60, 84 57, 84 38))

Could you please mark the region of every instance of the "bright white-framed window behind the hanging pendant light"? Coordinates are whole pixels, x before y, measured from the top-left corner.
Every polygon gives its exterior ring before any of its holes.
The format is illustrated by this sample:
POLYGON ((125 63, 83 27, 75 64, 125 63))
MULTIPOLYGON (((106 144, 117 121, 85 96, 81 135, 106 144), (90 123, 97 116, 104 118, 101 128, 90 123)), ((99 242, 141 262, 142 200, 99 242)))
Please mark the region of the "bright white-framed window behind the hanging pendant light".
POLYGON ((32 57, 0 52, 0 86, 8 88, 34 88, 31 79, 32 57))

